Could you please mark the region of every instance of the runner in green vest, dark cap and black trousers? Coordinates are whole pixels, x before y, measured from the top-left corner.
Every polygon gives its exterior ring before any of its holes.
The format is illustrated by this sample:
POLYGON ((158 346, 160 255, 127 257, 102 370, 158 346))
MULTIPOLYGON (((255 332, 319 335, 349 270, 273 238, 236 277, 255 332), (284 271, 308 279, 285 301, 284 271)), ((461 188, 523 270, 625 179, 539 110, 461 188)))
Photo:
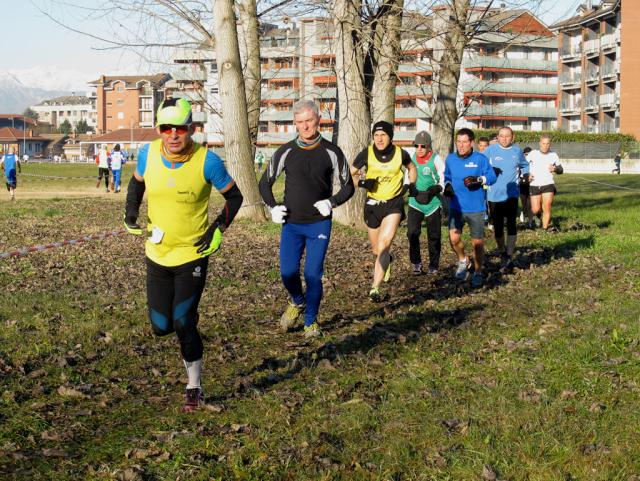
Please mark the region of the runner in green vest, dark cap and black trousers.
POLYGON ((426 219, 429 245, 429 269, 436 274, 440 265, 442 202, 438 194, 444 187, 444 162, 431 148, 431 136, 424 130, 418 132, 413 141, 416 149, 411 161, 415 165, 410 174, 412 194, 409 197, 407 237, 409 238, 409 260, 415 275, 422 273, 420 255, 420 231, 426 219))

